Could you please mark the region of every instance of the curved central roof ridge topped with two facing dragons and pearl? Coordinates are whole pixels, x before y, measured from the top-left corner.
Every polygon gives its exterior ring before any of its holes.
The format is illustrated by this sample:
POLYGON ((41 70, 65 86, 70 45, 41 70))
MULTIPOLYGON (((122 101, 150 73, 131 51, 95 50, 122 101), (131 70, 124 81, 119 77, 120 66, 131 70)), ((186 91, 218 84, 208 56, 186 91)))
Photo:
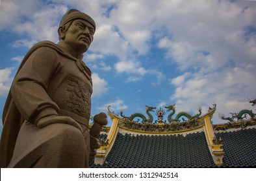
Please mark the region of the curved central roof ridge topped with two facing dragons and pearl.
POLYGON ((216 111, 216 104, 214 104, 214 106, 209 109, 207 114, 202 116, 201 107, 198 109, 198 114, 191 115, 183 111, 179 112, 175 118, 172 118, 173 114, 175 113, 175 104, 165 106, 164 108, 166 110, 164 110, 162 107, 157 109, 156 107, 150 107, 146 105, 146 114, 148 118, 139 112, 135 112, 131 114, 131 116, 125 116, 125 114, 123 114, 123 110, 121 110, 120 113, 115 114, 114 111, 110 111, 110 106, 108 107, 108 112, 110 117, 120 120, 118 124, 126 129, 147 133, 173 133, 201 127, 204 123, 203 118, 205 116, 212 117, 212 114, 216 111), (157 120, 153 122, 153 116, 151 112, 154 112, 154 109, 157 109, 155 112, 157 115, 157 120), (168 111, 172 112, 168 114, 167 122, 164 120, 164 115, 166 115, 166 112, 168 111))

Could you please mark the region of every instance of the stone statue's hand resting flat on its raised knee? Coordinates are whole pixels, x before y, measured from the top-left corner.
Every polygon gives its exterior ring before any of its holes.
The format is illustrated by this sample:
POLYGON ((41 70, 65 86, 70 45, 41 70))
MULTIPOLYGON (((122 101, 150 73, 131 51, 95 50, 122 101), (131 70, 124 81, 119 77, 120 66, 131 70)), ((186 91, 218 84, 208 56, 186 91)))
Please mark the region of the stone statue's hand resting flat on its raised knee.
POLYGON ((81 133, 83 133, 83 129, 81 125, 79 125, 79 123, 75 122, 75 120, 73 120, 68 116, 57 116, 57 115, 45 116, 44 118, 41 118, 40 120, 38 120, 38 122, 36 122, 36 127, 42 129, 45 126, 51 125, 54 123, 64 123, 68 125, 73 125, 77 129, 79 129, 81 133))

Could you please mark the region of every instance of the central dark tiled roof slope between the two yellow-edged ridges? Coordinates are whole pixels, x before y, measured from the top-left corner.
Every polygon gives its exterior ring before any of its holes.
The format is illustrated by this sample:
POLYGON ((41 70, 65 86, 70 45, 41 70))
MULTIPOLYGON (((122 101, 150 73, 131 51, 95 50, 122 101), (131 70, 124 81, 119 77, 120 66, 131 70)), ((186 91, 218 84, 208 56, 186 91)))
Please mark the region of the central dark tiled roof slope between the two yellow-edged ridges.
POLYGON ((137 135, 118 133, 103 165, 94 167, 216 167, 204 133, 137 135))

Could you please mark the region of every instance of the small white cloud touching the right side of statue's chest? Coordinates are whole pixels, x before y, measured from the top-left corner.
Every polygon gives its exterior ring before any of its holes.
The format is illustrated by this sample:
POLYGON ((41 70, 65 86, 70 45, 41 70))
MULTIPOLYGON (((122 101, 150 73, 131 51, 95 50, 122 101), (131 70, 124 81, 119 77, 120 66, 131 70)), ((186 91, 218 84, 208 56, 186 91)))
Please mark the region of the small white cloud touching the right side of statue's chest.
POLYGON ((93 85, 93 92, 92 96, 101 96, 108 91, 108 83, 103 78, 100 78, 98 74, 92 74, 92 85, 93 85))

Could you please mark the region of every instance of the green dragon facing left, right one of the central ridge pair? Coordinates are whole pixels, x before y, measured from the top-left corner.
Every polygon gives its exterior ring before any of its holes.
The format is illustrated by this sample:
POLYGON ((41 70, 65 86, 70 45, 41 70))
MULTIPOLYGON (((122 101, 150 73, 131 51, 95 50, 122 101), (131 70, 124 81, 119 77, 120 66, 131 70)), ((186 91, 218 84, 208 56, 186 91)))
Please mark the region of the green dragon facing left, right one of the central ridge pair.
MULTIPOLYGON (((172 111, 172 112, 168 115, 168 118, 167 118, 167 120, 168 120, 169 123, 171 123, 171 122, 181 122, 180 118, 181 118, 182 116, 186 117, 188 120, 194 120, 194 119, 196 119, 196 118, 199 118, 199 116, 201 115, 201 107, 199 107, 199 109, 198 109, 199 113, 196 114, 196 115, 194 115, 194 116, 192 116, 191 114, 188 114, 187 112, 179 112, 179 113, 175 116, 175 118, 173 119, 172 116, 173 116, 173 114, 175 114, 175 104, 166 106, 165 108, 167 109, 167 111, 172 111)), ((181 119, 183 120, 183 122, 185 121, 184 118, 181 118, 181 119)))

